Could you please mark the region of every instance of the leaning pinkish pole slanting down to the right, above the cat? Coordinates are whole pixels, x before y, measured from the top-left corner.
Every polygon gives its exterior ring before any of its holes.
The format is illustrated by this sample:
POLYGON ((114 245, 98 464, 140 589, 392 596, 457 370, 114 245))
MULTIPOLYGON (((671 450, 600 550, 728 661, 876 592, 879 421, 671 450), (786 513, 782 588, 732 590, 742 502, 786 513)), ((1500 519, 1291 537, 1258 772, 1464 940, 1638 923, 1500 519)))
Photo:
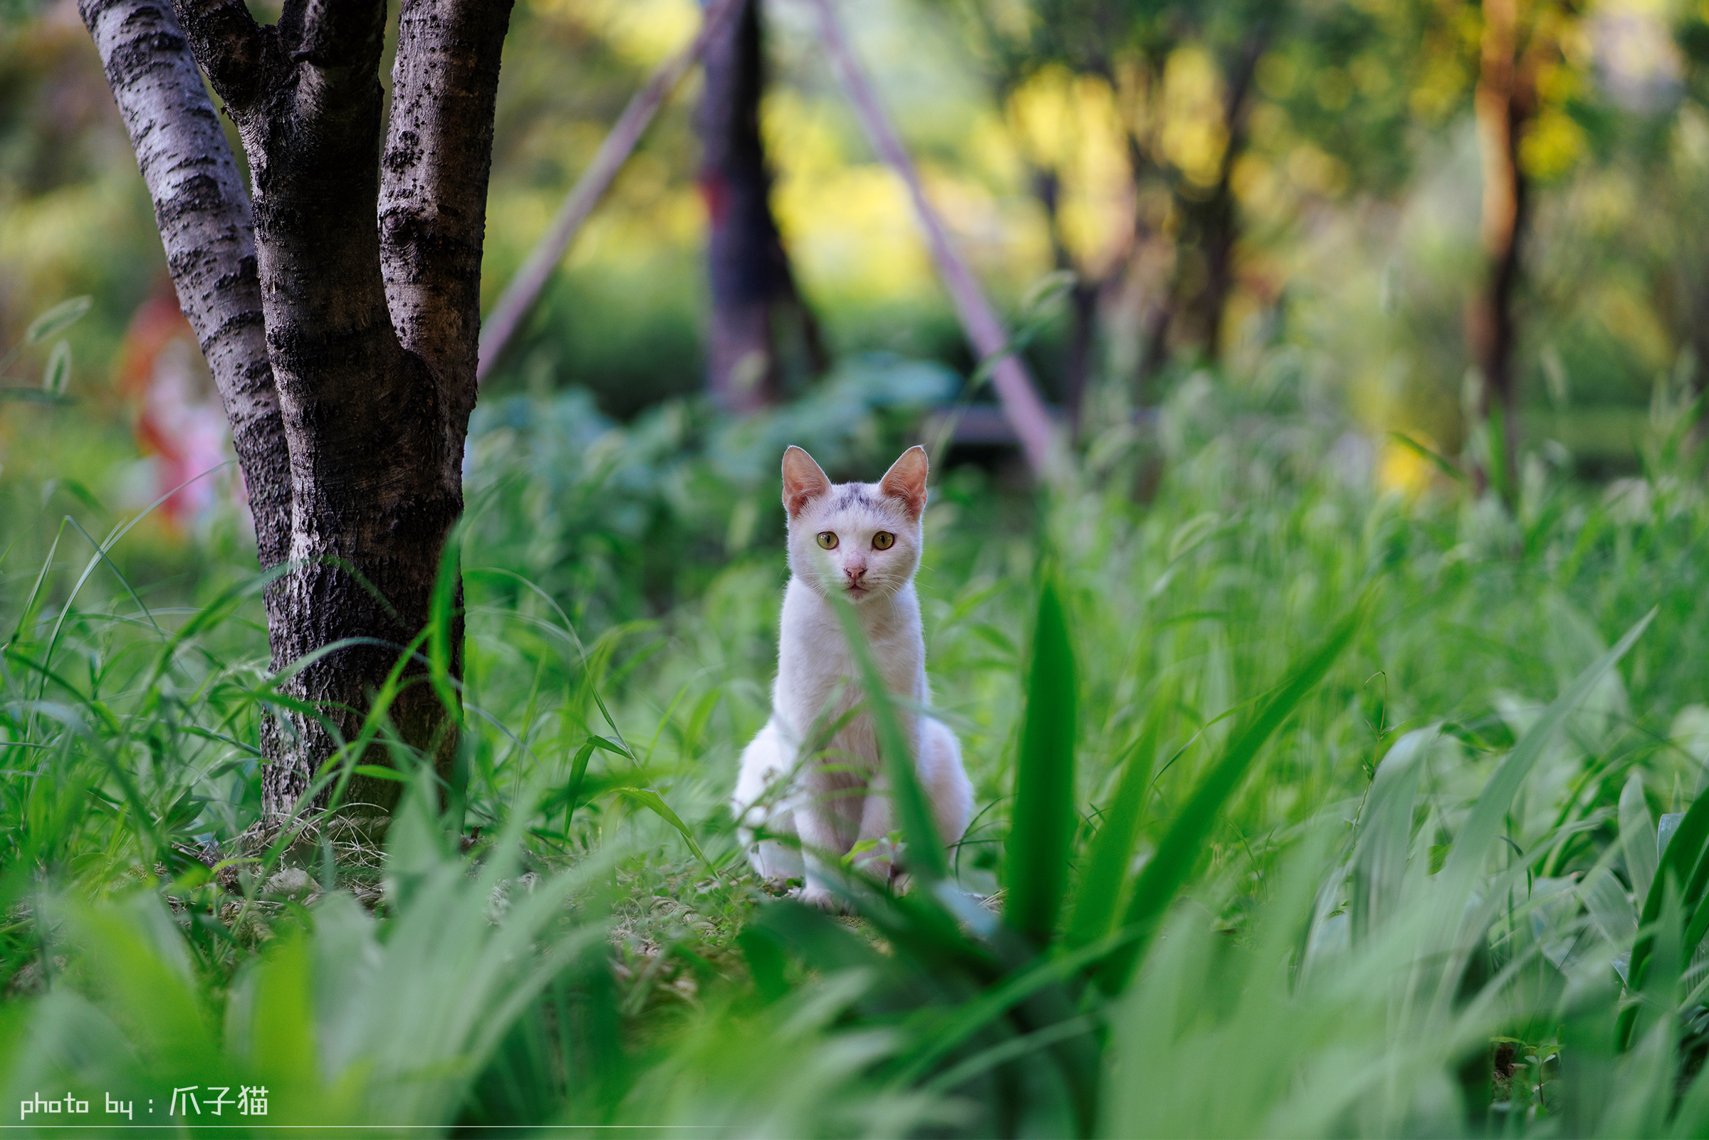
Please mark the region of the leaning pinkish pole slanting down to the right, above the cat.
POLYGON ((991 301, 984 296, 972 270, 967 268, 967 261, 950 244, 943 219, 938 217, 938 212, 926 198, 925 186, 919 183, 919 171, 914 169, 914 161, 902 147, 902 140, 896 133, 896 125, 890 123, 890 116, 878 101, 872 80, 854 56, 854 50, 843 32, 843 24, 837 21, 832 0, 812 0, 812 3, 819 9, 819 36, 824 39, 825 51, 831 55, 831 63, 836 67, 844 91, 848 91, 849 103, 854 104, 854 113, 866 130, 872 149, 907 185, 907 195, 914 202, 914 214, 918 214, 919 227, 926 234, 931 260, 937 263, 943 287, 955 303, 955 314, 960 318, 962 332, 967 333, 967 340, 981 359, 996 361, 991 366, 991 386, 996 388, 1003 415, 1008 419, 1010 427, 1015 429, 1032 473, 1046 482, 1054 482, 1063 470, 1061 444, 1051 424, 1049 410, 1044 407, 1044 400, 1039 398, 1039 390, 1027 373, 1027 366, 1010 350, 1008 332, 1003 328, 1003 321, 996 316, 996 309, 991 308, 991 301))

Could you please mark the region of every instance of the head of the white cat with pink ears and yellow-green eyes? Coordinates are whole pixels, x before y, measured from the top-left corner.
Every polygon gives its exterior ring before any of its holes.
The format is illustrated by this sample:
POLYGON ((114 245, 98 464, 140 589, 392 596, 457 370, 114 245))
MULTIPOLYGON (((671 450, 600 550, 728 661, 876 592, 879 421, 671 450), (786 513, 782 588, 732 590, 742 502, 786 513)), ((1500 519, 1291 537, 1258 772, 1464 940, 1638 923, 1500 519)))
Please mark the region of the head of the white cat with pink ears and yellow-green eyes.
POLYGON ((926 450, 909 448, 875 484, 832 484, 813 456, 783 453, 790 571, 822 595, 887 596, 919 567, 926 450))

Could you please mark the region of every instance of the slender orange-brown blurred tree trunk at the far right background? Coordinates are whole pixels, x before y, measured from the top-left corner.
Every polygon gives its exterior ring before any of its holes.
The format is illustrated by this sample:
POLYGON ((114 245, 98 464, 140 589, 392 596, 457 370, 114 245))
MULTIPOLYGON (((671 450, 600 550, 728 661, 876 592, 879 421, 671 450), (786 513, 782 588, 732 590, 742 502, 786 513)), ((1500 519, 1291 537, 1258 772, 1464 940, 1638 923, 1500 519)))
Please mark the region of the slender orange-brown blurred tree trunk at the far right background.
POLYGON ((1518 378, 1512 362, 1518 326, 1514 292, 1519 284, 1519 236, 1526 220, 1528 186, 1519 167, 1519 138, 1535 113, 1530 68, 1519 44, 1521 0, 1483 2, 1483 51, 1473 96, 1478 126, 1478 156, 1483 164, 1482 241, 1485 280, 1466 308, 1466 342, 1483 376, 1478 412, 1501 415, 1501 465, 1485 472, 1506 496, 1518 485, 1516 451, 1518 378))

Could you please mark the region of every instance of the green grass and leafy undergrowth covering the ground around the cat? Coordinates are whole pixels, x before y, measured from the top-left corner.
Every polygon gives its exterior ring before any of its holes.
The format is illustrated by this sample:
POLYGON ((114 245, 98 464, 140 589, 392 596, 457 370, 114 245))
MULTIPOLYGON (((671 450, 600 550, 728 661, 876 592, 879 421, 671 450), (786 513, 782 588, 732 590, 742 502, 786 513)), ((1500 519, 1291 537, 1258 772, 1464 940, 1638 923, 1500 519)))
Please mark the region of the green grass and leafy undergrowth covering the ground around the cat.
POLYGON ((834 920, 761 889, 723 807, 784 576, 749 456, 897 443, 824 407, 484 412, 467 786, 441 814, 391 742, 383 837, 239 839, 280 701, 241 552, 145 579, 79 533, 123 518, 0 485, 0 1123, 263 1084, 267 1123, 468 1135, 1709 1130, 1678 414, 1620 494, 1528 458, 1514 514, 1381 494, 1333 420, 1208 378, 1154 436, 1109 414, 1049 501, 950 470, 919 586, 976 820, 834 920))

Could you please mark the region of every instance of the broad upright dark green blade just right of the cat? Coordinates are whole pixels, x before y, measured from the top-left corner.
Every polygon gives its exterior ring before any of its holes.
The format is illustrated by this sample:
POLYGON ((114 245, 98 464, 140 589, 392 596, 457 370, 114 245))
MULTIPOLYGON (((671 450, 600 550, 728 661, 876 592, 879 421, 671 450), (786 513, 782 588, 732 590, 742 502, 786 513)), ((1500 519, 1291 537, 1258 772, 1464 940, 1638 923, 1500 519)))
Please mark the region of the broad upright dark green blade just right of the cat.
POLYGON ((1073 808, 1075 663, 1056 585, 1039 590, 1039 615, 1027 670, 1027 714, 1015 766, 1015 819, 1003 865, 1005 918, 1044 945, 1068 889, 1073 808))

